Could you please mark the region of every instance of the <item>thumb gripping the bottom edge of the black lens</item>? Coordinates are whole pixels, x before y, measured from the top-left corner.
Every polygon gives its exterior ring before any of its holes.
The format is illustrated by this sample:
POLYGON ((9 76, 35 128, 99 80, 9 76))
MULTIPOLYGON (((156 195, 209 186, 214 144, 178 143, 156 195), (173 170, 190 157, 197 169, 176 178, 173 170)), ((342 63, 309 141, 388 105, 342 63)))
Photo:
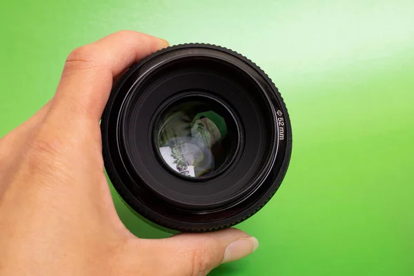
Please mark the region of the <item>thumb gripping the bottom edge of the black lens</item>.
POLYGON ((157 256, 157 266, 168 267, 168 272, 161 275, 207 275, 219 264, 246 257, 259 246, 255 237, 235 228, 213 233, 184 233, 146 242, 154 243, 151 248, 153 256, 157 256))

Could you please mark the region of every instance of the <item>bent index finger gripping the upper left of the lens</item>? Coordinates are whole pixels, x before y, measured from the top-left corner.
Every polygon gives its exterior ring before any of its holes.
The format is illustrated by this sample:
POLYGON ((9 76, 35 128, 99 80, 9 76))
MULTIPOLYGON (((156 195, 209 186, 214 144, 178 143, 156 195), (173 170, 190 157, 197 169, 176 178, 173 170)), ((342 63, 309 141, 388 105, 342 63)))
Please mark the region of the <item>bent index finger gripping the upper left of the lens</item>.
POLYGON ((66 127, 68 118, 99 122, 112 79, 132 63, 167 46, 164 39, 121 31, 72 51, 63 69, 50 117, 58 121, 64 117, 66 127))

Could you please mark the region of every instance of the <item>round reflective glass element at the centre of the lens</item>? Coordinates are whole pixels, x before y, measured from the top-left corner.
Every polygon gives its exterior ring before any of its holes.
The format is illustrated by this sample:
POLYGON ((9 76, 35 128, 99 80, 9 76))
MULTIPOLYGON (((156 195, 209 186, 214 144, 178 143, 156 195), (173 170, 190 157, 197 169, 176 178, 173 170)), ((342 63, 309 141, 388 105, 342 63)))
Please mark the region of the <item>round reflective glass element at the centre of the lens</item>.
POLYGON ((158 122, 155 145, 159 157, 181 175, 213 175, 234 155, 235 120, 218 101, 181 99, 166 108, 158 122))

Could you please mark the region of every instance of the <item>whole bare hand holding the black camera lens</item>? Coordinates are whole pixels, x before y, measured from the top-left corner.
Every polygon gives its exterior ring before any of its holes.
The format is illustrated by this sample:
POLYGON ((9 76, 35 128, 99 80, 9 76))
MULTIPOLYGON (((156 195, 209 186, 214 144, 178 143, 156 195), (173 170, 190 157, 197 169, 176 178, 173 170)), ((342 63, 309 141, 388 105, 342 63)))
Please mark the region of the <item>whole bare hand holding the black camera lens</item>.
POLYGON ((121 31, 77 48, 55 96, 0 139, 0 275, 207 275, 257 248, 234 228, 139 239, 117 216, 99 119, 112 82, 166 46, 121 31))

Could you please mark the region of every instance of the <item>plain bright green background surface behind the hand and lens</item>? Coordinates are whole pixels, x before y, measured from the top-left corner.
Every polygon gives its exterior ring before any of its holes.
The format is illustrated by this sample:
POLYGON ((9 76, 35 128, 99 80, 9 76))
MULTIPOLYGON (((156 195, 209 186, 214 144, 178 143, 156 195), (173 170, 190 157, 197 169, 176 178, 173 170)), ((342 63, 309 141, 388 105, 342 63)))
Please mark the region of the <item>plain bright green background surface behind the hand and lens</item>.
POLYGON ((1 0, 0 137, 52 97, 70 50, 123 29, 237 50, 286 100, 288 175, 239 224, 261 245, 211 275, 414 275, 413 0, 1 0))

